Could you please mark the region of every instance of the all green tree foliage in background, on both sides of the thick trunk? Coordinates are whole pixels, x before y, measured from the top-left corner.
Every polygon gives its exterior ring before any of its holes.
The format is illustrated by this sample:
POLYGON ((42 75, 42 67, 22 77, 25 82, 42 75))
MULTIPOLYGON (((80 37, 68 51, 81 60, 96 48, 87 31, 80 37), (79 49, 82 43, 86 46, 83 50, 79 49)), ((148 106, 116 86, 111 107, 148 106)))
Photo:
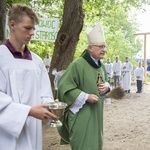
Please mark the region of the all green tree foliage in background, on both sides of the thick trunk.
MULTIPOLYGON (((7 0, 7 7, 12 3, 26 3, 31 5, 39 17, 58 17, 60 27, 64 9, 64 1, 61 0, 7 0)), ((149 0, 84 0, 83 9, 85 12, 84 28, 80 34, 76 53, 77 58, 87 47, 85 29, 93 26, 95 22, 102 21, 106 36, 107 50, 106 57, 114 57, 119 54, 123 59, 127 54, 133 56, 139 51, 142 45, 135 43, 133 34, 137 31, 137 23, 134 18, 129 19, 131 7, 140 9, 142 4, 149 4, 149 0)), ((32 41, 30 48, 42 58, 47 51, 53 54, 54 43, 32 41)))

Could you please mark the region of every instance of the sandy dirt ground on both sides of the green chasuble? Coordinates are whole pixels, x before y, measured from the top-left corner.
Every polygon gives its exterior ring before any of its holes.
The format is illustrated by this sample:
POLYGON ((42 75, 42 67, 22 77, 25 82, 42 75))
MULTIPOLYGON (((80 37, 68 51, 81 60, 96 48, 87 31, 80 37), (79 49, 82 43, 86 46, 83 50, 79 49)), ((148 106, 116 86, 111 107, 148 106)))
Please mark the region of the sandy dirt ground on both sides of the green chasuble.
MULTIPOLYGON (((70 150, 59 139, 57 130, 44 123, 43 150, 70 150)), ((150 150, 150 84, 141 94, 133 85, 123 100, 105 104, 103 150, 150 150)))

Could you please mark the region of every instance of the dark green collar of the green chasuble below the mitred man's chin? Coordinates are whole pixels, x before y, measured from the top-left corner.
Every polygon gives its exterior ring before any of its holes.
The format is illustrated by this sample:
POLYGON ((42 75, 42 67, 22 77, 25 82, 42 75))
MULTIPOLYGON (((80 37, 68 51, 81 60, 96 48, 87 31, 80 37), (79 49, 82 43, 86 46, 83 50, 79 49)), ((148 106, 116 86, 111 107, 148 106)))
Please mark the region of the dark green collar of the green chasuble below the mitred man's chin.
POLYGON ((88 53, 88 50, 85 50, 82 54, 81 57, 83 57, 92 67, 94 68, 100 68, 101 67, 101 62, 98 60, 98 65, 94 62, 94 60, 91 58, 91 56, 88 53))

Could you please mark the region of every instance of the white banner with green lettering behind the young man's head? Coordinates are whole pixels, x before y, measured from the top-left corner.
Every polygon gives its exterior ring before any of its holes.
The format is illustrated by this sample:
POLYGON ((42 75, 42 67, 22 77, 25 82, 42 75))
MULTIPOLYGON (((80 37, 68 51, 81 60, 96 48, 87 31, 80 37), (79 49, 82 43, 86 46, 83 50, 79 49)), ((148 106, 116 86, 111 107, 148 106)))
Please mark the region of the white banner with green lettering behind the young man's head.
MULTIPOLYGON (((8 17, 7 17, 8 18, 8 17)), ((6 18, 6 20, 8 20, 6 18)), ((34 36, 32 40, 54 42, 59 27, 58 18, 39 18, 39 24, 35 26, 34 36)), ((6 21, 5 37, 10 37, 10 30, 6 21)))

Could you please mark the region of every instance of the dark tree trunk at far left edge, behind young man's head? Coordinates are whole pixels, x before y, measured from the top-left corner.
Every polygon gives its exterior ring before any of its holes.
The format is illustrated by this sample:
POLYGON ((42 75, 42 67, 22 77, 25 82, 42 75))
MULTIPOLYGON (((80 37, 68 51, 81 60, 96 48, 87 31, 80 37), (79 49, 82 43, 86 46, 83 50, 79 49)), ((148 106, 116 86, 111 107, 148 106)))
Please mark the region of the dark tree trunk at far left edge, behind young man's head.
POLYGON ((6 0, 0 0, 0 44, 5 39, 6 0))

